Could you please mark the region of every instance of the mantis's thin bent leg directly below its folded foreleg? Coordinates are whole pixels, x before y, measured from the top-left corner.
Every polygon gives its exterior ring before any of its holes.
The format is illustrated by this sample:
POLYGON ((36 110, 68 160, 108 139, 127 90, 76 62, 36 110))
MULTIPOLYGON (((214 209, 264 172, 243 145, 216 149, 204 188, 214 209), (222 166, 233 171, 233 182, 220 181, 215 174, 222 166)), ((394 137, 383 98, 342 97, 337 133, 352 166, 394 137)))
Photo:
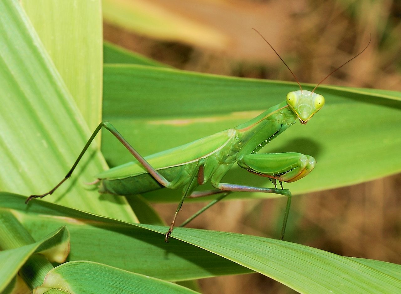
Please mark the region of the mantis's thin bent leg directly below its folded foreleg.
POLYGON ((288 219, 288 213, 290 213, 290 206, 291 206, 292 195, 291 195, 290 190, 263 188, 263 187, 251 187, 251 186, 235 185, 235 184, 227 184, 227 183, 214 183, 213 186, 222 191, 274 193, 274 194, 280 194, 280 195, 286 196, 287 197, 287 205, 286 205, 286 212, 284 213, 284 220, 283 220, 283 226, 281 229, 280 240, 282 240, 284 238, 284 233, 286 231, 286 225, 287 225, 287 219, 288 219))

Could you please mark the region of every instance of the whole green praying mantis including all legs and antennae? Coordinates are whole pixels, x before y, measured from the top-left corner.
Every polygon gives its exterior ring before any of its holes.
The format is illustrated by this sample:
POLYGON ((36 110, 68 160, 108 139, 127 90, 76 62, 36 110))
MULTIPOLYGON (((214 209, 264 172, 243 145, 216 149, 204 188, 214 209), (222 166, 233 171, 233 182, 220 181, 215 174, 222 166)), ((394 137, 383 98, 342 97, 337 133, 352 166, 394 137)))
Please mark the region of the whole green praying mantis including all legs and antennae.
MULTIPOLYGON (((271 47, 269 42, 266 41, 266 43, 271 47)), ((273 47, 271 48, 273 49, 273 47)), ((273 51, 279 56, 274 49, 273 51)), ((282 60, 280 56, 279 58, 282 60)), ((283 63, 286 65, 284 61, 283 63)), ((290 70, 290 68, 288 69, 290 70)), ((334 71, 327 75, 320 83, 334 73, 334 71)), ((295 75, 294 78, 296 79, 295 75)), ((201 209, 201 211, 195 214, 196 216, 207 207, 224 198, 231 191, 276 193, 286 196, 287 205, 281 231, 281 239, 283 239, 290 211, 291 193, 289 190, 283 189, 282 182, 294 182, 303 178, 314 168, 316 161, 312 156, 297 152, 272 154, 258 154, 257 152, 284 132, 289 126, 295 124, 296 120, 299 120, 301 124, 306 124, 323 107, 324 97, 314 93, 320 83, 312 91, 306 91, 302 90, 297 79, 296 81, 300 86, 300 90, 288 93, 286 101, 270 107, 252 120, 240 124, 235 128, 218 132, 145 158, 108 121, 101 122, 85 144, 81 154, 79 154, 65 178, 48 193, 31 195, 26 200, 26 203, 32 198, 43 198, 46 195, 51 195, 69 178, 97 133, 101 128, 105 128, 131 152, 136 161, 111 168, 98 174, 97 178, 100 182, 99 191, 101 193, 128 196, 163 187, 169 189, 183 188, 182 198, 174 214, 174 219, 165 235, 166 242, 168 242, 168 237, 173 231, 176 217, 185 198, 221 193, 220 197, 212 201, 204 209, 201 209), (223 176, 225 176, 235 163, 253 174, 268 177, 273 182, 275 188, 251 187, 221 182, 223 176), (203 185, 209 180, 215 188, 214 190, 195 191, 198 185, 203 185), (281 189, 277 189, 277 181, 281 189)), ((188 223, 191 219, 193 217, 185 221, 184 224, 188 223)))

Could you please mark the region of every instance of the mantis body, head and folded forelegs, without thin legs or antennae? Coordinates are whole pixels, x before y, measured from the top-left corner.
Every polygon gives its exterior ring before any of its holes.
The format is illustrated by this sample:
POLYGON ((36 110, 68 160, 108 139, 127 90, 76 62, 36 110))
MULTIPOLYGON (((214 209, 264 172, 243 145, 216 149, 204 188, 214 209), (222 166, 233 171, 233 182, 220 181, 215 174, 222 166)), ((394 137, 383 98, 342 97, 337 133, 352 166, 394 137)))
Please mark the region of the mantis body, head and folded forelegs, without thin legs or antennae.
MULTIPOLYGON (((314 158, 299 153, 256 153, 298 118, 306 124, 323 104, 321 95, 291 92, 286 102, 270 107, 249 122, 145 159, 168 180, 170 189, 188 184, 193 170, 201 165, 203 178, 198 179, 198 184, 210 180, 213 187, 221 189, 221 179, 235 163, 272 180, 293 182, 313 169, 314 158), (294 106, 290 107, 289 99, 296 100, 294 106), (301 111, 302 119, 298 114, 301 111)), ((97 178, 101 180, 101 192, 116 195, 134 195, 163 187, 138 161, 101 172, 97 178)))

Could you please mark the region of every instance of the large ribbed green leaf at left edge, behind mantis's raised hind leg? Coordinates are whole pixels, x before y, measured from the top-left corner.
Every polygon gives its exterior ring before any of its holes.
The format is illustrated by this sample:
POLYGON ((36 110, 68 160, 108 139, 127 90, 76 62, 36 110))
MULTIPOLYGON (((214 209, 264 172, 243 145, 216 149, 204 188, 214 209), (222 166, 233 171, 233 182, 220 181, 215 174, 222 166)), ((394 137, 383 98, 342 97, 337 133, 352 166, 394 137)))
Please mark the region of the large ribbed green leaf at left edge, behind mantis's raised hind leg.
MULTIPOLYGON (((45 193, 71 168, 90 132, 17 1, 0 2, 0 31, 0 189, 45 193)), ((46 199, 134 221, 123 197, 100 201, 84 184, 105 168, 93 144, 75 170, 79 180, 73 176, 46 199)))

